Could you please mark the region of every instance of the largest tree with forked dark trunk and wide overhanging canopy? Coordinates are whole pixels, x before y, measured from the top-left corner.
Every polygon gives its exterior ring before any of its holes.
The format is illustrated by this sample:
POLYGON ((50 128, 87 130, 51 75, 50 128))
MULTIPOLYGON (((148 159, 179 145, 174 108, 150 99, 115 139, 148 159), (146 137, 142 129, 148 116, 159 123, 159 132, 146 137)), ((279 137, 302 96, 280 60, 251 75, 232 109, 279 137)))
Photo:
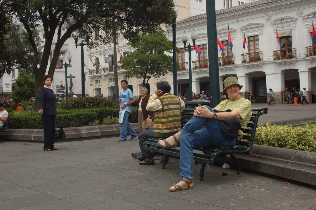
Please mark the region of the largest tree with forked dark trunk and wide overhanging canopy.
POLYGON ((88 46, 92 48, 111 42, 113 30, 122 29, 125 38, 133 39, 140 33, 155 30, 159 24, 171 24, 175 14, 173 0, 3 0, 0 7, 16 16, 24 25, 27 39, 33 47, 35 109, 55 35, 57 41, 48 69, 48 74, 52 76, 60 50, 72 35, 89 43, 88 46), (45 34, 43 52, 36 46, 33 34, 34 28, 39 25, 42 25, 45 34), (100 31, 99 39, 91 39, 95 30, 100 31), (37 65, 39 54, 42 54, 42 59, 37 65))

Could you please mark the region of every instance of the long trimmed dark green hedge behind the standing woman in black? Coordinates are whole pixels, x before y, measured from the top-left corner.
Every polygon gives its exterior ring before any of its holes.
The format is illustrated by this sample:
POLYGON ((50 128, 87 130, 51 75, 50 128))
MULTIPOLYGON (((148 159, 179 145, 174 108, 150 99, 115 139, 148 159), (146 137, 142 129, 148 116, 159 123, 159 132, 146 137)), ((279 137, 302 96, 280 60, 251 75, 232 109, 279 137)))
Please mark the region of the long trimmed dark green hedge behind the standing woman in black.
MULTIPOLYGON (((9 128, 32 128, 42 129, 43 124, 37 111, 13 111, 10 117, 9 128)), ((119 117, 119 108, 89 108, 89 109, 58 109, 58 119, 63 128, 88 126, 89 123, 102 124, 103 119, 108 116, 119 117)), ((129 123, 137 123, 137 109, 133 108, 128 118, 129 123)), ((117 122, 118 123, 118 122, 117 122)), ((57 122, 56 122, 57 124, 57 122)))

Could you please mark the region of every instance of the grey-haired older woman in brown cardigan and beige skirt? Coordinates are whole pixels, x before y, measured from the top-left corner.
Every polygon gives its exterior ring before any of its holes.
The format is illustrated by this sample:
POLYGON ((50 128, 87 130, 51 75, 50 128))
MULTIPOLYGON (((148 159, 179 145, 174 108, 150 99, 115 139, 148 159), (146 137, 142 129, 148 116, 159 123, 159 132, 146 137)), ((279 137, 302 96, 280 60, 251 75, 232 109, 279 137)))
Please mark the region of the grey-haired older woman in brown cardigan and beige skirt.
POLYGON ((149 95, 147 94, 148 89, 146 87, 140 88, 140 97, 133 105, 137 105, 137 116, 139 128, 143 131, 149 130, 153 127, 152 111, 147 111, 146 106, 148 103, 149 95))

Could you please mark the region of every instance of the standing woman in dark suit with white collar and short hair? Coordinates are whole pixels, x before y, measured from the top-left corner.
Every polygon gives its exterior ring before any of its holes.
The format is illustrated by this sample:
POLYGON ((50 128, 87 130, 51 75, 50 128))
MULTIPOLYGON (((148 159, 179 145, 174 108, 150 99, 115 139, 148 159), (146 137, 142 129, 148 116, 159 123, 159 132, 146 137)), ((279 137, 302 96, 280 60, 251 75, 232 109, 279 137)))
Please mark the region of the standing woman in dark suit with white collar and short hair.
POLYGON ((44 151, 54 151, 55 142, 55 116, 56 96, 51 89, 53 78, 51 75, 44 75, 42 78, 44 87, 40 89, 39 113, 42 117, 44 128, 44 151))

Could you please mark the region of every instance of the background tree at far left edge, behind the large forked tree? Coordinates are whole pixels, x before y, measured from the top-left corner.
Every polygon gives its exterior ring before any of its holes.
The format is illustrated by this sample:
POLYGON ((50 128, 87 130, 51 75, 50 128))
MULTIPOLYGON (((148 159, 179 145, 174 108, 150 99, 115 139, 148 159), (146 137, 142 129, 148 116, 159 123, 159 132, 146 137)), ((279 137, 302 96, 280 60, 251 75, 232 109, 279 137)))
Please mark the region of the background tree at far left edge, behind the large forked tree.
MULTIPOLYGON (((33 48, 27 40, 26 31, 15 22, 10 22, 4 35, 3 48, 0 54, 0 77, 5 73, 11 74, 13 68, 26 72, 33 72, 33 48)), ((37 32, 33 32, 38 34, 37 32)), ((41 40, 37 35, 35 39, 40 49, 41 40)))

